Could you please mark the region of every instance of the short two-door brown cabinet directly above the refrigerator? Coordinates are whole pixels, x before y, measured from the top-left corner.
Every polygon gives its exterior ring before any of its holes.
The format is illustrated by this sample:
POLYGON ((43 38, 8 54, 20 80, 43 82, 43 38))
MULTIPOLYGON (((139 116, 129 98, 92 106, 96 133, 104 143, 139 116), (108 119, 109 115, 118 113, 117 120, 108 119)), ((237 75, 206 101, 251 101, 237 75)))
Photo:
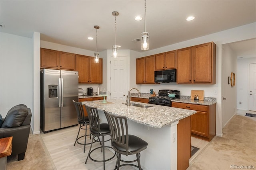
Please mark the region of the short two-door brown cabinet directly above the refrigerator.
POLYGON ((76 55, 41 48, 41 68, 75 70, 76 55))

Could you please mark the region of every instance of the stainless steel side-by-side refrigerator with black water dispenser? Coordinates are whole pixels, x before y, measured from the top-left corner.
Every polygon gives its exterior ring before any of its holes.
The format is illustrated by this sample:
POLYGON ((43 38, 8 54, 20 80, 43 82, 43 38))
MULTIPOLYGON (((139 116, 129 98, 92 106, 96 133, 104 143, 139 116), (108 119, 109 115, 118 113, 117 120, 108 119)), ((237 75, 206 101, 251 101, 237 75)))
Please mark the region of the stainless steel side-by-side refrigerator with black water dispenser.
POLYGON ((78 72, 43 69, 40 73, 40 128, 43 132, 78 124, 78 72))

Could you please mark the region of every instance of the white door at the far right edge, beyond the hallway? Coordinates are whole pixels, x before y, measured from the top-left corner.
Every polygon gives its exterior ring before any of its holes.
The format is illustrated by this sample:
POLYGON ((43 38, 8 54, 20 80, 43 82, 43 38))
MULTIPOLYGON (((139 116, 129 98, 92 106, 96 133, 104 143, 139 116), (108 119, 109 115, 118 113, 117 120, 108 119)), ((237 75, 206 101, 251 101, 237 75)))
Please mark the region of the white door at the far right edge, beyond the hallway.
POLYGON ((249 110, 256 111, 256 64, 249 64, 249 110))

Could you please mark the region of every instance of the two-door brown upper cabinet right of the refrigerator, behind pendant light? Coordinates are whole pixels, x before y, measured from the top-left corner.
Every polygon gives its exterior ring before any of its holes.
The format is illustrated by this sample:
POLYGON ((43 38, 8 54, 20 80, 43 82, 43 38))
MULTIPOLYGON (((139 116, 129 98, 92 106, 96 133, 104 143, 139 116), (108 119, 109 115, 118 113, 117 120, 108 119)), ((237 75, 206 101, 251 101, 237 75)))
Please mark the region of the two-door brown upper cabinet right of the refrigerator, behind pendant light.
POLYGON ((100 58, 100 63, 94 63, 94 57, 76 55, 78 82, 102 84, 102 61, 100 58))

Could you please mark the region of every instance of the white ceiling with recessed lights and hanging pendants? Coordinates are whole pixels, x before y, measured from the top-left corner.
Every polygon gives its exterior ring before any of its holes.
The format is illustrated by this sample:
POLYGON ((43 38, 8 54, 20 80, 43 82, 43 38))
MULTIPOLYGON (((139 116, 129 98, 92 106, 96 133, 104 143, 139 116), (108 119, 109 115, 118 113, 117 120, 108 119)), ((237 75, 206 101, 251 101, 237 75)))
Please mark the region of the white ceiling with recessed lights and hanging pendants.
MULTIPOLYGON (((150 49, 156 49, 225 29, 256 22, 256 0, 147 0, 146 31, 150 33, 150 49), (193 15, 195 20, 186 21, 193 15)), ((1 32, 96 51, 112 49, 114 16, 116 44, 120 49, 142 52, 144 0, 0 0, 1 32), (88 40, 87 37, 94 37, 88 40)), ((255 47, 254 47, 255 49, 255 47)))

